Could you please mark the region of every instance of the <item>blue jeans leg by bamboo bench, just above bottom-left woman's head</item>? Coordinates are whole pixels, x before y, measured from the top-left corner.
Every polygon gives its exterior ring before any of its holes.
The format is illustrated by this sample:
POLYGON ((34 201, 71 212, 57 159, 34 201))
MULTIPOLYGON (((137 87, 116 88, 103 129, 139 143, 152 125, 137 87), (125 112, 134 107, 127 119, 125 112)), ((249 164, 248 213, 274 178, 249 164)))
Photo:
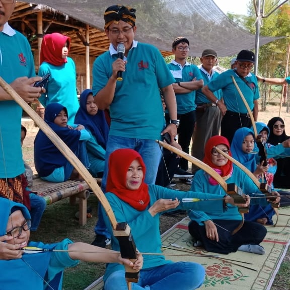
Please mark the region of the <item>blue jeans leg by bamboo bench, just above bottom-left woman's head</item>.
POLYGON ((36 231, 41 218, 42 214, 45 210, 46 207, 46 201, 42 196, 39 196, 34 193, 29 194, 29 199, 30 199, 30 215, 31 215, 31 231, 36 231))

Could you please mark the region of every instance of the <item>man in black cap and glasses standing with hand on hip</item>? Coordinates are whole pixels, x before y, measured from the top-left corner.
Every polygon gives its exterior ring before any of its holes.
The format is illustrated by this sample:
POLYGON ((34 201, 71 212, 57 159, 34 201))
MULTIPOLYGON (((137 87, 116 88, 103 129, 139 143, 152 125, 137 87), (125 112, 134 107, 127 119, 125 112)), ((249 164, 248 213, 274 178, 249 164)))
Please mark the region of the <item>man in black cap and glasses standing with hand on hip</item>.
POLYGON ((250 128, 252 125, 247 108, 232 81, 232 76, 242 91, 255 121, 257 121, 260 96, 257 78, 251 74, 254 63, 255 54, 250 50, 241 50, 237 55, 237 67, 225 71, 202 89, 202 93, 220 108, 224 116, 221 123, 221 135, 228 138, 230 142, 232 142, 237 129, 250 128), (220 101, 213 94, 219 89, 223 91, 224 101, 220 101))

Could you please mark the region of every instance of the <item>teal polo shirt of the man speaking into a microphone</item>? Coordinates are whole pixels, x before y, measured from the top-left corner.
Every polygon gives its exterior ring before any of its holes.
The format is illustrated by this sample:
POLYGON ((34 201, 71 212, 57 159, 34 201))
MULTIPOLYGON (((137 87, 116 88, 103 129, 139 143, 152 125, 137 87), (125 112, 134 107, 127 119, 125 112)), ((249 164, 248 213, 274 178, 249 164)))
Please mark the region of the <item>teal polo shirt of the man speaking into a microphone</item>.
MULTIPOLYGON (((93 95, 102 90, 112 76, 117 54, 112 44, 93 65, 93 95)), ((109 135, 140 139, 159 139, 164 129, 164 113, 159 88, 175 82, 159 50, 150 44, 133 42, 127 55, 123 81, 117 81, 110 104, 109 135)))

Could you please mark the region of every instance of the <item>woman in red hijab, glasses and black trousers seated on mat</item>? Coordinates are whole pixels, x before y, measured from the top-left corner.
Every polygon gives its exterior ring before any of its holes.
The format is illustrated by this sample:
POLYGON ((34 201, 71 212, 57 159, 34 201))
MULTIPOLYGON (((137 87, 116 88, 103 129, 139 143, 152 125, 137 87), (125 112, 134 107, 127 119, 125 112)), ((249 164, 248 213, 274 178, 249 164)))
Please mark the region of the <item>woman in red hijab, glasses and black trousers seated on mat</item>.
MULTIPOLYGON (((223 136, 213 136, 205 144, 204 163, 218 172, 227 183, 235 183, 244 193, 249 195, 254 192, 261 193, 240 168, 219 154, 214 147, 232 156, 228 139, 223 136)), ((203 170, 197 171, 194 175, 191 190, 210 192, 221 197, 225 194, 219 183, 203 170)), ((257 200, 252 199, 251 203, 257 200)), ((265 198, 259 201, 267 202, 265 198)), ((232 234, 242 221, 242 216, 236 206, 229 205, 228 210, 220 214, 207 208, 206 210, 190 210, 188 215, 191 219, 188 230, 196 246, 202 244, 205 250, 222 254, 237 250, 260 255, 265 253, 264 248, 259 245, 267 233, 264 226, 245 221, 242 228, 232 234)))

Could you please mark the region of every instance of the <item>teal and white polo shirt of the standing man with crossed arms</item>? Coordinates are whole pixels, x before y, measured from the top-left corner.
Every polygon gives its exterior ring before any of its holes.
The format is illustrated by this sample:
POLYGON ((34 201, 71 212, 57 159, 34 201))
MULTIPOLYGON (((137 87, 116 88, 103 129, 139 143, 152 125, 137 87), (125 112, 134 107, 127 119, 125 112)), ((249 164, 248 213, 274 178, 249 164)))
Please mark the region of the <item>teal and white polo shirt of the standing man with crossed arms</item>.
MULTIPOLYGON (((171 71, 172 76, 175 78, 175 82, 191 82, 194 78, 197 81, 202 80, 199 68, 186 62, 184 66, 175 60, 172 60, 168 64, 168 68, 171 71)), ((195 92, 191 91, 187 94, 175 94, 177 103, 177 114, 186 114, 195 110, 195 92)))

